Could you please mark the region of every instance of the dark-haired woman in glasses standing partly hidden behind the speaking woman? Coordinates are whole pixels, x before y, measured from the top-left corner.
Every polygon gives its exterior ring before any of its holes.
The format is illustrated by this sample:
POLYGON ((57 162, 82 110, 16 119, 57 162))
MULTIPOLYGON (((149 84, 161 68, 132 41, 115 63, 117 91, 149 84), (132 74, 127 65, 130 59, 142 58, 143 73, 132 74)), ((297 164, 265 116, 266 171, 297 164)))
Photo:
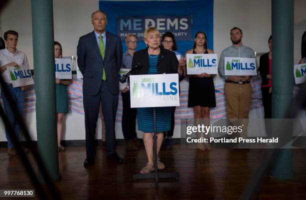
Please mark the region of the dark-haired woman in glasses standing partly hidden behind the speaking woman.
MULTIPOLYGON (((183 58, 182 54, 179 52, 176 52, 177 50, 177 45, 174 39, 174 34, 172 32, 165 32, 161 36, 161 44, 164 49, 171 50, 175 53, 179 64, 178 64, 178 73, 182 74, 179 76, 179 81, 184 78, 183 75, 183 66, 186 64, 185 59, 183 58)), ((163 133, 163 136, 165 139, 163 140, 163 146, 166 148, 172 148, 172 136, 173 136, 173 131, 174 131, 174 113, 175 113, 175 106, 171 107, 171 129, 169 131, 166 131, 163 133)))

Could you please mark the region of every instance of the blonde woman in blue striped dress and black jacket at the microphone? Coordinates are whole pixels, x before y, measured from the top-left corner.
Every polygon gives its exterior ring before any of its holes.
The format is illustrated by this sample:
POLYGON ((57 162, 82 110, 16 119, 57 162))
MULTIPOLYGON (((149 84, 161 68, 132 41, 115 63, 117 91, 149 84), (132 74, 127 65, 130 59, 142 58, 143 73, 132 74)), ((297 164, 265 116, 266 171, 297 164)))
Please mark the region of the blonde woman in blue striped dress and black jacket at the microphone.
MULTIPOLYGON (((133 55, 132 66, 139 63, 140 66, 133 74, 177 73, 178 60, 175 53, 160 48, 160 33, 155 27, 148 27, 144 31, 143 40, 148 46, 136 51, 133 55)), ((163 140, 163 132, 170 130, 171 107, 156 107, 156 136, 157 155, 163 140)), ((137 108, 138 129, 143 131, 143 143, 147 156, 147 163, 140 173, 150 173, 153 165, 153 108, 137 108)), ((157 159, 157 169, 164 169, 164 164, 157 159)))

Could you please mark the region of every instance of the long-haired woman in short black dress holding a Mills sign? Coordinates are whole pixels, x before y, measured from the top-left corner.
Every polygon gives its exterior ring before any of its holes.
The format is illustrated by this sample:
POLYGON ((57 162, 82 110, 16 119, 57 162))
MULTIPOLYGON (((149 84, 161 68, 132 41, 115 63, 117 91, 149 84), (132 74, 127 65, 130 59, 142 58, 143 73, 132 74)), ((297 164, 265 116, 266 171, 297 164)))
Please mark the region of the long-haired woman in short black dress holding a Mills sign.
MULTIPOLYGON (((186 54, 195 53, 214 53, 213 50, 207 48, 206 34, 202 31, 195 34, 193 48, 185 53, 185 58, 186 54)), ((215 107, 213 76, 207 73, 189 76, 188 107, 193 107, 194 125, 209 125, 210 107, 215 107)), ((200 137, 200 133, 197 136, 200 137)), ((200 150, 212 149, 208 143, 198 143, 198 148, 200 150)))

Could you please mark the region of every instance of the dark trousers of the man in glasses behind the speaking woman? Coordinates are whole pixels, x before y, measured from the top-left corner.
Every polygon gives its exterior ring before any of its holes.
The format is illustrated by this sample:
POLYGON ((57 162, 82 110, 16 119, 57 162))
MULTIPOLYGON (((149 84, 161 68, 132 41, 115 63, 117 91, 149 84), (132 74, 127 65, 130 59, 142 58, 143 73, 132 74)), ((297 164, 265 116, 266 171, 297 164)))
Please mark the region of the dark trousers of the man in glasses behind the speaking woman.
POLYGON ((137 109, 130 107, 130 94, 129 91, 122 93, 122 132, 125 140, 133 139, 137 137, 136 134, 136 114, 137 109))

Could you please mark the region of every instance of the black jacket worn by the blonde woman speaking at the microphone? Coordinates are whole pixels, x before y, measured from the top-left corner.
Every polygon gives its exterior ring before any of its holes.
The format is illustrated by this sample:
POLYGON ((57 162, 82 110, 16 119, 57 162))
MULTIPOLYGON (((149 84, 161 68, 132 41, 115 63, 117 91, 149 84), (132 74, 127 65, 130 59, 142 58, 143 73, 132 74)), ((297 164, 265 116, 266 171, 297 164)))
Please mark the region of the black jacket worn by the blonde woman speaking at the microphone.
MULTIPOLYGON (((147 48, 134 52, 132 67, 137 62, 140 63, 140 67, 138 67, 133 74, 148 74, 149 63, 147 48)), ((156 67, 158 73, 177 73, 178 60, 175 53, 173 51, 160 48, 156 67)))

